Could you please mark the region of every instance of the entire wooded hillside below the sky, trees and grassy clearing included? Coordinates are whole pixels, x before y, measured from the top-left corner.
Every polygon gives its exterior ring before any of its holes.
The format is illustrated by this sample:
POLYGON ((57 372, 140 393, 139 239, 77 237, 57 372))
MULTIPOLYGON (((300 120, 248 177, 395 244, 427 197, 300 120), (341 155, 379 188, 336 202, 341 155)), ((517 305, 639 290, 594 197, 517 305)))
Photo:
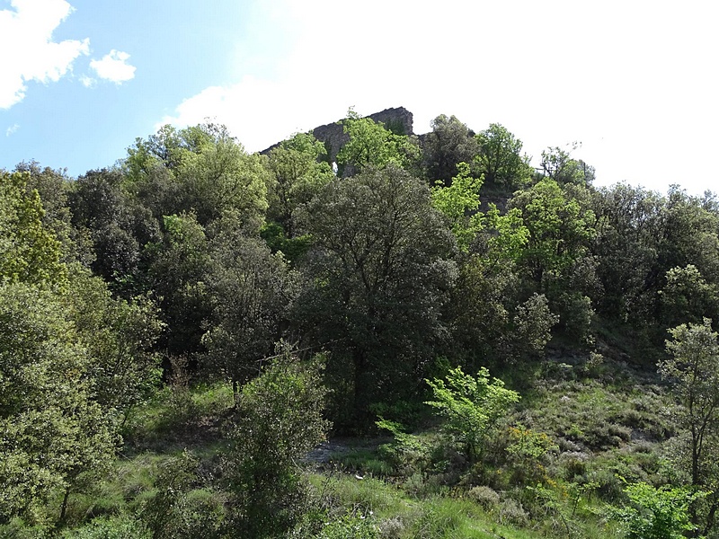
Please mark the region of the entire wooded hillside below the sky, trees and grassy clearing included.
POLYGON ((341 124, 0 170, 0 536, 719 537, 719 199, 341 124))

